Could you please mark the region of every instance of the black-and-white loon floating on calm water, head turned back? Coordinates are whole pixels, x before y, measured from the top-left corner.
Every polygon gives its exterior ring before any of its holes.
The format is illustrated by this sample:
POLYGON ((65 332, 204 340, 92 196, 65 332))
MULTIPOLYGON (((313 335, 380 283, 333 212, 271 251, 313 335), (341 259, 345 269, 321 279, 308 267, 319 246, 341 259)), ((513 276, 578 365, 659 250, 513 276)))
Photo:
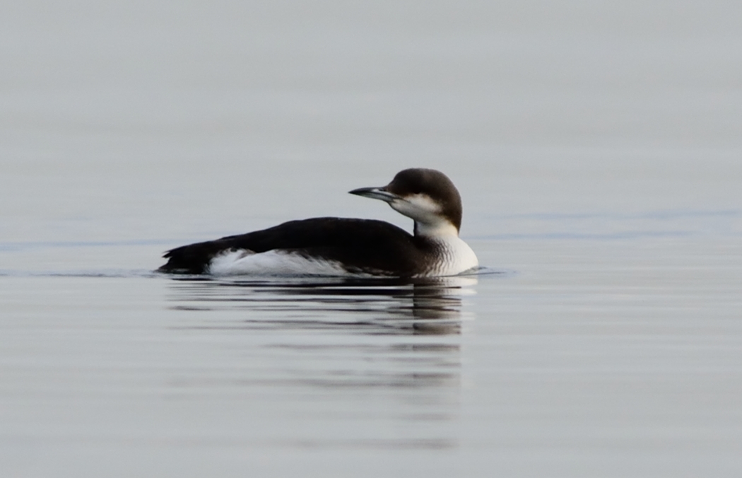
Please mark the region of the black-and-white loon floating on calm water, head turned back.
POLYGON ((159 272, 210 275, 458 275, 479 265, 459 238, 462 200, 434 169, 400 171, 387 186, 349 191, 389 203, 415 221, 414 235, 370 219, 315 217, 180 246, 159 272))

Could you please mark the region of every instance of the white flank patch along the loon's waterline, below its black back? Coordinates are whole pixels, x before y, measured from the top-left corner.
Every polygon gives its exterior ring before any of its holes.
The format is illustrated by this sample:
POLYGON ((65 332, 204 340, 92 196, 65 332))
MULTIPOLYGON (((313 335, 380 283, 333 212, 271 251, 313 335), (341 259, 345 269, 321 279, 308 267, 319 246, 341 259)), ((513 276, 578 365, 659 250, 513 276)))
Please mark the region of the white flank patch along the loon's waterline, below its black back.
POLYGON ((348 275, 335 261, 308 259, 292 252, 240 249, 211 259, 212 275, 348 275))

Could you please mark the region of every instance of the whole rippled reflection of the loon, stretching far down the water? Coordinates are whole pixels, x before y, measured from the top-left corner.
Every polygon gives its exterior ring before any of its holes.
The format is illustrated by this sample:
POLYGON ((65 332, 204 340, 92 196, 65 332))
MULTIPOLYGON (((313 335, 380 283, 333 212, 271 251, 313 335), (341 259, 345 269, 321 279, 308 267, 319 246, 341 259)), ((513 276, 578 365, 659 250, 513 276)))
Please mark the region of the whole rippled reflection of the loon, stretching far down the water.
POLYGON ((173 278, 171 309, 183 312, 174 328, 226 361, 173 370, 168 393, 280 410, 279 448, 457 448, 462 299, 476 282, 173 278), (327 427, 337 436, 301 431, 327 427))

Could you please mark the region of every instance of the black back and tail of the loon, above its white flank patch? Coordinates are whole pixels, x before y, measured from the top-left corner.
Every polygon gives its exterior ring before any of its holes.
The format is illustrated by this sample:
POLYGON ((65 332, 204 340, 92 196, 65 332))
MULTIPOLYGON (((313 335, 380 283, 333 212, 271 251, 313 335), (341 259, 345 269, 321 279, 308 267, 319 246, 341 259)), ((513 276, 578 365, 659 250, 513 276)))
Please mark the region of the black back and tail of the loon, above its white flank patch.
POLYGON ((166 252, 160 272, 203 274, 221 252, 283 249, 305 257, 339 261, 348 272, 398 275, 423 272, 435 246, 381 220, 315 217, 269 229, 181 246, 166 252))

